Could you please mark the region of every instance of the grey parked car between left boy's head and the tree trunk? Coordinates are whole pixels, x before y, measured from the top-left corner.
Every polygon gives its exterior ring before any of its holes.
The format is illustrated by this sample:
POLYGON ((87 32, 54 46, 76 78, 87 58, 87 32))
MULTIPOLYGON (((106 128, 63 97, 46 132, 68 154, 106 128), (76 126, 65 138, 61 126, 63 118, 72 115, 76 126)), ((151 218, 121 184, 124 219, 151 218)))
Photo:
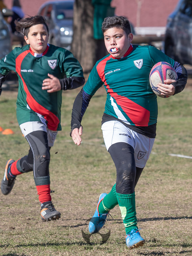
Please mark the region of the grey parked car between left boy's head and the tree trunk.
POLYGON ((48 1, 41 5, 38 15, 45 17, 49 28, 49 43, 71 49, 73 37, 74 0, 48 1))

